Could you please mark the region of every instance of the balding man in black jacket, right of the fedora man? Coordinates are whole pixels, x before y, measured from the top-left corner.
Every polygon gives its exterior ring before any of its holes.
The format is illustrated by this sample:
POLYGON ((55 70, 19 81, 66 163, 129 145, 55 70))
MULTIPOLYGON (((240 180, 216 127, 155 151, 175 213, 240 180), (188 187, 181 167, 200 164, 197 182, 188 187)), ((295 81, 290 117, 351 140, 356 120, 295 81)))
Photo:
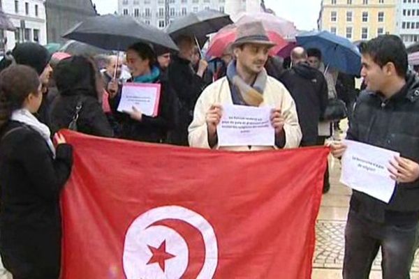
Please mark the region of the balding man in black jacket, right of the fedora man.
POLYGON ((300 146, 314 146, 318 137, 318 122, 328 104, 328 84, 323 74, 307 63, 307 52, 295 47, 291 52, 293 67, 279 80, 290 91, 297 106, 298 121, 302 130, 300 146))

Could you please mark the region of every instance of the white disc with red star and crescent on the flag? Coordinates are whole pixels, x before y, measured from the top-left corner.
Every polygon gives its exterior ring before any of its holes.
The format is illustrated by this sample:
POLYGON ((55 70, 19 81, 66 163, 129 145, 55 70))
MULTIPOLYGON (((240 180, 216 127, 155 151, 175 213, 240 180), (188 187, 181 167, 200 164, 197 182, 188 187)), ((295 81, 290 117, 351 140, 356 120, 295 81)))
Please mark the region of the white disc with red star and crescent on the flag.
POLYGON ((189 259, 197 258, 193 257, 197 248, 188 245, 188 240, 175 229, 177 226, 193 227, 202 236, 205 259, 196 278, 214 276, 218 245, 212 225, 190 209, 162 206, 142 213, 128 227, 123 254, 127 279, 179 279, 191 272, 189 259), (176 226, 162 225, 164 220, 175 221, 176 226))

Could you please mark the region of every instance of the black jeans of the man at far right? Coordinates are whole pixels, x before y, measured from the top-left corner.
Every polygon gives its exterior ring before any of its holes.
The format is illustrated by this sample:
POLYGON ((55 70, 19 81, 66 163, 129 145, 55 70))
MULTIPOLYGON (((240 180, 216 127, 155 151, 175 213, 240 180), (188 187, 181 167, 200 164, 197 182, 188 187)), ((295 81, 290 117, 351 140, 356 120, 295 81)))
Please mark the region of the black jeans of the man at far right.
POLYGON ((381 247, 383 279, 410 278, 418 239, 418 222, 410 225, 376 223, 349 211, 345 229, 344 279, 368 279, 381 247))

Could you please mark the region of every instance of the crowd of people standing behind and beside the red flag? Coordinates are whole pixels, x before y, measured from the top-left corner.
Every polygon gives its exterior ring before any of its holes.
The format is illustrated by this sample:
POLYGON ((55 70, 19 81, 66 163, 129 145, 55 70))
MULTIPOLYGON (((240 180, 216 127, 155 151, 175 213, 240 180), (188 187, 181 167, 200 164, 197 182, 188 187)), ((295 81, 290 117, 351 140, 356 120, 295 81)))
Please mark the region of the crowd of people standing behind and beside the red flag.
MULTIPOLYGON (((0 62, 0 255, 13 278, 59 278, 59 193, 73 162, 59 130, 233 151, 316 146, 339 129, 323 118, 333 98, 346 103, 348 139, 401 153, 391 169, 397 188, 390 204, 353 191, 344 278, 367 278, 380 247, 383 278, 409 278, 419 223, 419 80, 407 74, 402 41, 385 35, 362 45, 367 89, 356 106, 355 77, 325 68, 319 50, 303 47, 291 52, 287 68, 268 55, 274 43, 260 22, 240 26, 215 62, 205 61, 193 36, 175 43, 176 53, 135 43, 124 56, 97 57, 51 56, 21 43, 0 62), (161 85, 158 115, 117 110, 126 82, 161 85), (274 107, 274 146, 219 146, 228 104, 274 107)), ((340 158, 346 146, 331 149, 340 158)), ((326 171, 323 192, 329 188, 326 171)))

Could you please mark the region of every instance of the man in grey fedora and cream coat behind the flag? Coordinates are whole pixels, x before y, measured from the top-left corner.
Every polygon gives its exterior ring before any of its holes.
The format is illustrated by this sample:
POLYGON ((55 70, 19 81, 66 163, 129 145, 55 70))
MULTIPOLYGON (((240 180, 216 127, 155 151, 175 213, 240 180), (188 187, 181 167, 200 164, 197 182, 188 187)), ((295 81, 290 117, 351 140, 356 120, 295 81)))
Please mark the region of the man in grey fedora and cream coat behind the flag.
POLYGON ((285 86, 267 75, 264 68, 270 41, 261 22, 249 22, 237 28, 232 45, 235 60, 227 76, 217 80, 201 94, 189 126, 189 145, 219 149, 216 126, 222 116, 222 105, 274 107, 271 123, 275 129, 275 146, 235 146, 233 151, 298 147, 302 137, 295 103, 285 86))

